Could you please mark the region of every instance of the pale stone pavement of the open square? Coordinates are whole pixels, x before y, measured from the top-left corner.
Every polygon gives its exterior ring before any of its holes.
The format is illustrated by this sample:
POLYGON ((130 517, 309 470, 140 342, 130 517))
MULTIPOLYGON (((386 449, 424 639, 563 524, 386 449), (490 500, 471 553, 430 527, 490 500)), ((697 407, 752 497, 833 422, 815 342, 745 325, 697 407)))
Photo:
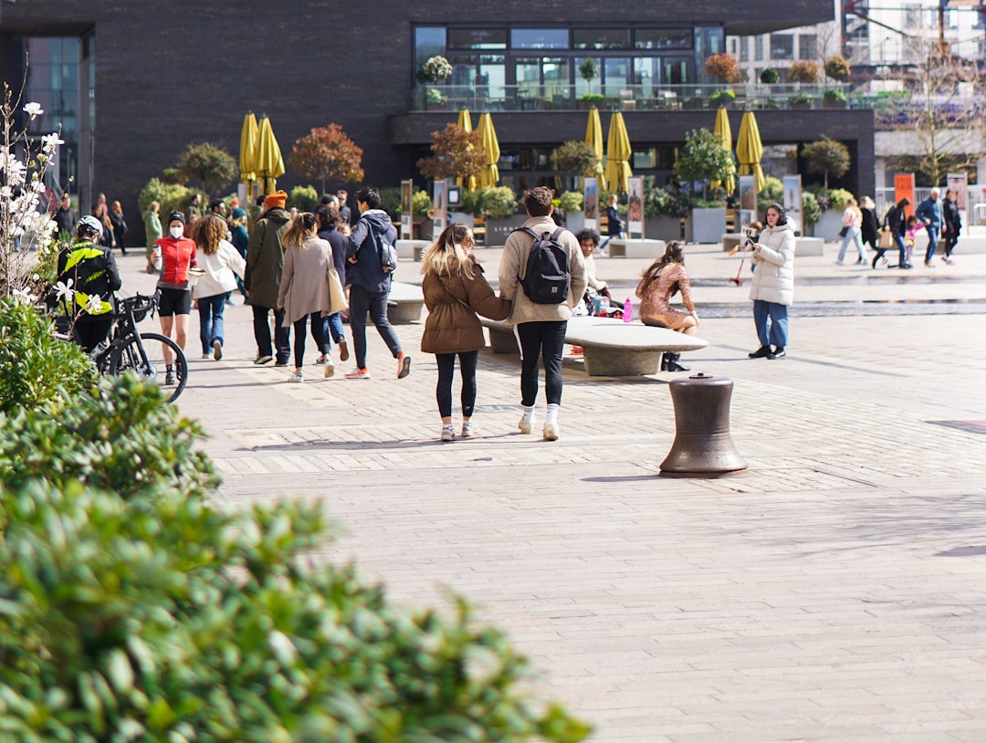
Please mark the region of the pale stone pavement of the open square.
MULTIPOLYGON (((834 266, 836 250, 799 260, 798 299, 986 300, 986 254, 908 274, 923 283, 834 266)), ((696 280, 736 275, 713 246, 686 255, 696 280)), ((598 262, 626 287, 646 263, 598 262)), ((121 266, 125 290, 150 286, 121 266)), ((696 290, 699 315, 747 286, 696 290)), ((198 359, 193 318, 178 402, 210 435, 218 498, 322 500, 341 530, 326 559, 397 601, 464 595, 592 740, 986 740, 983 313, 796 316, 773 362, 746 358, 748 315, 704 319, 709 347, 683 361, 735 380, 749 470, 727 479, 659 477, 672 374, 591 379, 566 358, 561 439, 543 442, 517 432, 517 358, 484 352, 479 435, 443 444, 421 325, 398 326, 406 379, 371 327, 373 379, 319 378, 310 344, 311 379, 289 384, 250 364, 247 307, 228 307, 219 363, 198 359)))

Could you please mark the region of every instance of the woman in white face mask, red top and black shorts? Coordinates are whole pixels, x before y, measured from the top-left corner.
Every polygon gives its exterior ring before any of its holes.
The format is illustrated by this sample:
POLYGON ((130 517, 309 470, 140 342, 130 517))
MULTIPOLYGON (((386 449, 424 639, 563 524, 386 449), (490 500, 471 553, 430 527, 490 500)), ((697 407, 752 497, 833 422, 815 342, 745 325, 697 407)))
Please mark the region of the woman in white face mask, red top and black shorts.
MULTIPOLYGON (((184 215, 172 212, 168 216, 168 236, 154 243, 151 260, 147 264, 147 272, 160 272, 158 279, 158 317, 161 319, 161 332, 172 337, 175 330, 175 342, 184 350, 188 340, 188 316, 191 313, 191 285, 188 282, 188 269, 198 268, 195 260, 195 242, 184 233, 184 215)), ((175 368, 172 364, 172 353, 164 346, 165 384, 175 384, 175 368)))

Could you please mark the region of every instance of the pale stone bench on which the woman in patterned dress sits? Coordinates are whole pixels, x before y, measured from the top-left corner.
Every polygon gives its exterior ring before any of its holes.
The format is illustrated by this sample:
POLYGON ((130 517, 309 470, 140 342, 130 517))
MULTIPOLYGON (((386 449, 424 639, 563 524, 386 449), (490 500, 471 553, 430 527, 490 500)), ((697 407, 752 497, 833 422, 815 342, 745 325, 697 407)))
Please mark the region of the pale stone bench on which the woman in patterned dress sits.
MULTIPOLYGON (((512 325, 504 320, 479 319, 489 330, 493 353, 520 353, 512 325)), ((708 345, 694 335, 612 317, 573 317, 568 321, 565 343, 582 346, 590 376, 655 374, 661 369, 663 353, 698 351, 708 345)))

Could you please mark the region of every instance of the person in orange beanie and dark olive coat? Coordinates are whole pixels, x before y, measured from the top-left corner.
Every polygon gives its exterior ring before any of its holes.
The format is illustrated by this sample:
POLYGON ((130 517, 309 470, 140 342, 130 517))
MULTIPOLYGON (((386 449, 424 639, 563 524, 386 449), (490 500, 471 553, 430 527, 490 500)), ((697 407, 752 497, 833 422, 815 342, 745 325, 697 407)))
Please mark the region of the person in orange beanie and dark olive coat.
POLYGON ((274 313, 275 366, 288 366, 291 356, 291 333, 284 326, 284 310, 277 308, 284 271, 283 236, 291 227, 291 215, 285 207, 288 194, 276 191, 263 200, 263 213, 253 226, 246 245, 246 301, 253 307, 253 337, 256 339, 254 364, 269 364, 271 348, 270 313, 274 313))

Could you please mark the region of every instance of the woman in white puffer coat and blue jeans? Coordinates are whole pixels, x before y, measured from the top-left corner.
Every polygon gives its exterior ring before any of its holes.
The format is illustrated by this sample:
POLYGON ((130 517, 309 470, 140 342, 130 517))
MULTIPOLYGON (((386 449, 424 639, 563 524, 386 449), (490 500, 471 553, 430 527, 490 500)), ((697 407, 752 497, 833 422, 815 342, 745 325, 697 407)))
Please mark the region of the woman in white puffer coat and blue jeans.
POLYGON ((784 207, 767 207, 767 226, 753 246, 753 322, 760 348, 750 359, 782 359, 788 345, 788 307, 795 300, 795 224, 784 207), (773 345, 773 350, 771 350, 773 345))

